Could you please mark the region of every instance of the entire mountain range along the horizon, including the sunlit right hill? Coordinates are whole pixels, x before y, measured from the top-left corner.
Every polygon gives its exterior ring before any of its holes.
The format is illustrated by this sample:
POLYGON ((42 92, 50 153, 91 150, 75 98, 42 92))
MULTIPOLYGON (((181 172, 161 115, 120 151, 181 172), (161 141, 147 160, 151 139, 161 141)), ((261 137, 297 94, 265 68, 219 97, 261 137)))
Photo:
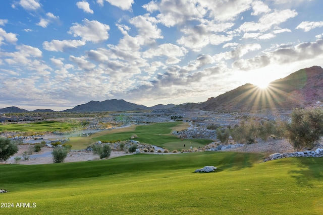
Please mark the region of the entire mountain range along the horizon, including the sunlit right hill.
MULTIPOLYGON (((312 66, 300 69, 283 79, 273 81, 266 89, 260 89, 252 84, 245 84, 201 103, 159 104, 146 107, 126 102, 122 99, 111 99, 102 102, 90 101, 61 112, 132 111, 169 108, 207 111, 291 110, 295 107, 313 106, 319 101, 323 101, 323 69, 320 66, 312 66)), ((37 109, 28 111, 18 107, 0 109, 0 113, 8 112, 53 112, 53 110, 37 109)))

